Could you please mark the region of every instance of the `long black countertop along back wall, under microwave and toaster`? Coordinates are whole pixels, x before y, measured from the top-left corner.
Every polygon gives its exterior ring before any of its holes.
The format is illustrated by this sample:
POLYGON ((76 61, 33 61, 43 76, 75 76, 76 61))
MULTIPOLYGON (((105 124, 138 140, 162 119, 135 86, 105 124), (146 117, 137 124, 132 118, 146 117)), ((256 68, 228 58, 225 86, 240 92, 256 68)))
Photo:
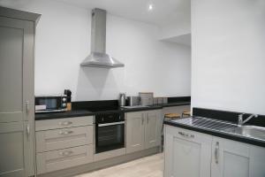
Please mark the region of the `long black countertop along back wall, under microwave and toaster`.
POLYGON ((81 116, 91 116, 96 113, 106 113, 106 112, 140 112, 140 111, 148 111, 148 110, 157 110, 162 109, 163 107, 169 106, 180 106, 180 105, 190 105, 190 102, 176 102, 170 104, 159 104, 152 105, 148 107, 137 107, 137 108, 118 108, 115 110, 105 110, 105 111, 88 111, 85 109, 80 110, 72 110, 71 112, 49 112, 49 113, 35 113, 35 120, 42 119, 64 119, 64 118, 72 118, 72 117, 81 117, 81 116))

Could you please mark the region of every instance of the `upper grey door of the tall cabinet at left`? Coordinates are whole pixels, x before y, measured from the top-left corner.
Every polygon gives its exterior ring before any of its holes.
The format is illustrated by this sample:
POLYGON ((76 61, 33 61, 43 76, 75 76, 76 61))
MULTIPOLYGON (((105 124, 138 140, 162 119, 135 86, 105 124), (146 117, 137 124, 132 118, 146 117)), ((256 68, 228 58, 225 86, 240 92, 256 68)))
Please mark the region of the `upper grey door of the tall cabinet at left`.
POLYGON ((34 22, 0 17, 0 122, 34 119, 34 22))

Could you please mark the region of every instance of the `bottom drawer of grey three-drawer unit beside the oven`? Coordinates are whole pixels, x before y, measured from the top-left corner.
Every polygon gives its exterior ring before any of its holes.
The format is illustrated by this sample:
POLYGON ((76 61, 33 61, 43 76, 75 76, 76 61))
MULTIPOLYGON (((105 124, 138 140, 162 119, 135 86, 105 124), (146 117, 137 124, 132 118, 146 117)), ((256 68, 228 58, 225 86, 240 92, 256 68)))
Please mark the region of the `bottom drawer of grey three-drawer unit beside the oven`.
POLYGON ((37 173, 49 173, 92 161, 92 145, 37 153, 37 173))

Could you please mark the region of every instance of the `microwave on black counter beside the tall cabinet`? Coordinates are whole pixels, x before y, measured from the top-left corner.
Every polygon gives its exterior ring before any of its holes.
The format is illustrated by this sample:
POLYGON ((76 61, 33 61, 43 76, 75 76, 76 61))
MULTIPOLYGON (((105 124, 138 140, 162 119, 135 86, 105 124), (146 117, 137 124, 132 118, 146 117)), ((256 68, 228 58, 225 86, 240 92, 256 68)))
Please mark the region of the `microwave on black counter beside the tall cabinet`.
POLYGON ((35 96, 35 113, 66 112, 67 96, 35 96))

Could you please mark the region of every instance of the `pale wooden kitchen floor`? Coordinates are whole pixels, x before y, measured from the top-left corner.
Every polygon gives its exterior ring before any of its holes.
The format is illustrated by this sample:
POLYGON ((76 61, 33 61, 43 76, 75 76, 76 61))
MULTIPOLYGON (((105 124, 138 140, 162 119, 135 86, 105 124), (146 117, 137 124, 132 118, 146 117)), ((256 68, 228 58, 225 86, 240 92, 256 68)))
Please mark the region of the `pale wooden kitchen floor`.
POLYGON ((75 177, 163 177, 163 154, 140 158, 75 177))

